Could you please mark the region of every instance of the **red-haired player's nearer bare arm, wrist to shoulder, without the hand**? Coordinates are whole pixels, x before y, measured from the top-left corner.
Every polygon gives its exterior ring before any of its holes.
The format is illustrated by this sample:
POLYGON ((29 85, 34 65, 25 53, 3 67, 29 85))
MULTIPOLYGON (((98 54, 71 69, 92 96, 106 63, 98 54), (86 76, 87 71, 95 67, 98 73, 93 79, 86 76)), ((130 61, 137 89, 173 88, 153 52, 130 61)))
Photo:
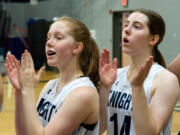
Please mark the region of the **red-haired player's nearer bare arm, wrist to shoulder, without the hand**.
MULTIPOLYGON (((84 93, 86 88, 76 89, 63 103, 61 109, 53 116, 46 127, 43 127, 38 118, 35 108, 34 94, 25 92, 23 94, 26 135, 69 135, 81 124, 94 124, 98 121, 98 115, 93 121, 86 123, 86 119, 92 115, 94 105, 98 105, 98 96, 84 93), (92 102, 93 100, 93 102, 92 102), (72 106, 73 104, 73 106, 72 106), (88 107, 87 107, 88 106, 88 107), (29 113, 31 111, 31 113, 29 113)), ((26 89, 32 91, 32 89, 26 89)), ((94 92, 94 90, 93 90, 94 92)), ((96 109, 98 114, 99 108, 96 109)))

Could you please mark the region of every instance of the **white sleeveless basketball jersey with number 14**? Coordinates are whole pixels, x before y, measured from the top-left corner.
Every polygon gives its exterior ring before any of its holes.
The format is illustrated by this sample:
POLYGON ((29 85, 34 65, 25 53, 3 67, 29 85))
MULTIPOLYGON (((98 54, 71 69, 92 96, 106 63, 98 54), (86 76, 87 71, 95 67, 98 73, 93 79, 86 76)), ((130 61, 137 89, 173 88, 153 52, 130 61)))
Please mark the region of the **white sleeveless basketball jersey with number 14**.
MULTIPOLYGON (((108 135, 136 135, 132 119, 132 89, 127 79, 128 68, 118 69, 117 79, 110 91, 107 109, 108 135)), ((166 69, 158 64, 153 64, 144 81, 143 86, 148 104, 150 103, 153 80, 163 70, 166 69)), ((172 117, 160 135, 171 134, 171 119, 172 117)))

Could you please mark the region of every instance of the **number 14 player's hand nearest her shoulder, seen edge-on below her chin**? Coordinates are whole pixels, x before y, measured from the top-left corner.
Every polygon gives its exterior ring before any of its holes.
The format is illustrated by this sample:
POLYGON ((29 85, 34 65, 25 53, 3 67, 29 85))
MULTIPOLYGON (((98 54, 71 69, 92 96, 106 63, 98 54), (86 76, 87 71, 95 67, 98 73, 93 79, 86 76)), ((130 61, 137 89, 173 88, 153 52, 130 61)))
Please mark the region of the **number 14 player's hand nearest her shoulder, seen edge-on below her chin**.
POLYGON ((148 76, 152 64, 153 64, 153 56, 149 56, 146 59, 145 64, 140 67, 137 74, 135 74, 134 77, 132 77, 130 79, 130 83, 131 83, 132 87, 141 87, 141 86, 143 86, 144 80, 148 76))

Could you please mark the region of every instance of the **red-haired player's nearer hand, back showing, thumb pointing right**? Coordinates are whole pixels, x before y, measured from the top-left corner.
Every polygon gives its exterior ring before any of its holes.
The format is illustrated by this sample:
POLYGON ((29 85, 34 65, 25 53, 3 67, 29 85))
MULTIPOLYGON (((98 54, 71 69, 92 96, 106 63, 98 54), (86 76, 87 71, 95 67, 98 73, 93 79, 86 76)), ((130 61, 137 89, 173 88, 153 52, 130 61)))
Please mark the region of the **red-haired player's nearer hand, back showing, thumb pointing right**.
POLYGON ((19 81, 22 89, 35 89, 44 69, 45 66, 41 67, 39 72, 36 74, 32 57, 30 53, 25 50, 21 57, 21 66, 19 71, 19 81))

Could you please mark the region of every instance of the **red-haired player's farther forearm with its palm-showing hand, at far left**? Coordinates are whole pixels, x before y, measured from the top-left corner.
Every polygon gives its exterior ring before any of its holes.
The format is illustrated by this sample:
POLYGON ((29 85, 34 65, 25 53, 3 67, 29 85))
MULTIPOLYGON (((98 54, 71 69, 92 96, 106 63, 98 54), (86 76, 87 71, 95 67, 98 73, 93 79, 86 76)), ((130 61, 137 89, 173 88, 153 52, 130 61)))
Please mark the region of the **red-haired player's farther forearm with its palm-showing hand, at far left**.
MULTIPOLYGON (((19 84, 19 62, 13 55, 7 55, 5 68, 9 77, 9 80, 15 88, 15 127, 17 135, 25 134, 24 125, 24 109, 22 102, 22 91, 19 84)), ((40 70, 43 72, 43 68, 40 70)), ((40 73, 40 74, 41 74, 40 73)))

